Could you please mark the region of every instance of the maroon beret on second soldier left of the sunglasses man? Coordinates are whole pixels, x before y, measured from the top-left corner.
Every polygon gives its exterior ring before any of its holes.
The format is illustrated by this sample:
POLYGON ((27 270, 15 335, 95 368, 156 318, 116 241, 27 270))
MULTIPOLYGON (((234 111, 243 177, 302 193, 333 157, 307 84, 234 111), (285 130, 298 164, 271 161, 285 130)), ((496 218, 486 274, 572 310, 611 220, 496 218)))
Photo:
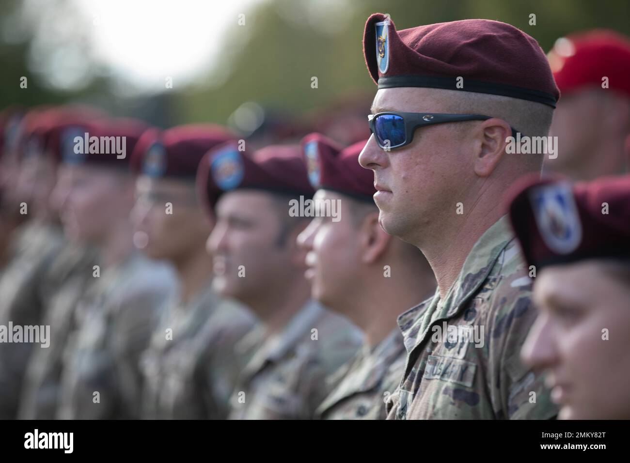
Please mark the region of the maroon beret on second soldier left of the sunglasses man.
POLYGON ((203 156, 197 172, 200 200, 214 207, 219 196, 235 189, 312 197, 299 145, 272 145, 248 154, 236 141, 224 143, 203 156))

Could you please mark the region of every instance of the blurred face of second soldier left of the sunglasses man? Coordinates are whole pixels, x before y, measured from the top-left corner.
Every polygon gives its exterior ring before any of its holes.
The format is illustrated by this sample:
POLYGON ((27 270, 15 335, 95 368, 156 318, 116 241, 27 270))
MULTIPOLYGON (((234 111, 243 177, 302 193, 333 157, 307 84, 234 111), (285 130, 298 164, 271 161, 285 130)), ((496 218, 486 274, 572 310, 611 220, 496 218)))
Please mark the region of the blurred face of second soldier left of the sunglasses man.
POLYGON ((279 211, 271 193, 236 190, 222 195, 215 212, 207 249, 219 294, 250 304, 281 287, 287 272, 295 272, 292 248, 297 244, 278 242, 280 214, 289 214, 288 204, 279 211))

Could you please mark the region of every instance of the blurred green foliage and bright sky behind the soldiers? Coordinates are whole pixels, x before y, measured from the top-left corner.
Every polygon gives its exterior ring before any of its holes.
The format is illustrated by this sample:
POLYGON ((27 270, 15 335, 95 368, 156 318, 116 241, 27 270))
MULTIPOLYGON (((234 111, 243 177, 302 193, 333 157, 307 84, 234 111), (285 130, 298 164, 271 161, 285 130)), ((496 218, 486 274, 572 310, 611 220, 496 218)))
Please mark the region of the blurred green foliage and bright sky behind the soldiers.
MULTIPOLYGON (((331 105, 340 99, 369 102, 375 86, 365 69, 362 35, 365 20, 375 12, 389 13, 398 29, 466 18, 505 21, 536 38, 546 52, 556 39, 573 31, 610 28, 630 35, 627 0, 259 0, 242 5, 245 25, 238 25, 236 14, 221 18, 210 14, 207 37, 216 52, 193 78, 185 84, 174 80, 173 88, 167 89, 164 76, 156 76, 161 85, 130 84, 125 72, 95 59, 92 39, 98 30, 86 20, 86 5, 77 4, 0 2, 0 108, 16 103, 88 103, 164 127, 226 123, 231 118, 234 122, 234 111, 246 102, 256 102, 256 108, 287 120, 334 109, 331 105), (529 25, 530 13, 536 14, 535 26, 529 25), (227 21, 221 33, 215 30, 217 21, 227 21), (20 88, 21 76, 28 77, 27 89, 20 88), (311 88, 313 76, 318 77, 316 89, 311 88)), ((207 8, 208 2, 204 4, 207 8)), ((180 13, 197 14, 195 4, 180 5, 147 1, 142 8, 185 8, 180 13)), ((132 20, 141 35, 144 14, 137 13, 132 20)), ((168 23, 162 27, 168 39, 174 32, 168 23)), ((237 111, 237 119, 238 115, 237 111)), ((245 111, 244 125, 248 115, 251 111, 245 111)))

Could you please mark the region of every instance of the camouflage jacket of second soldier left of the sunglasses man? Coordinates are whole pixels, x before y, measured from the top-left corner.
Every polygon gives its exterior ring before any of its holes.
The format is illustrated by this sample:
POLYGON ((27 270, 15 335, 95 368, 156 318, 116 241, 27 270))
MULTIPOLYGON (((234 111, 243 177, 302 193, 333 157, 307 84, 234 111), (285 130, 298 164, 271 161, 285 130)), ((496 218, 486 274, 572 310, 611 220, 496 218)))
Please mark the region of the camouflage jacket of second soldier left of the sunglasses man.
POLYGON ((253 330, 237 347, 254 352, 230 401, 232 420, 308 420, 330 392, 326 377, 348 362, 362 335, 345 319, 308 302, 281 333, 253 330), (317 331, 313 331, 316 329, 317 331))

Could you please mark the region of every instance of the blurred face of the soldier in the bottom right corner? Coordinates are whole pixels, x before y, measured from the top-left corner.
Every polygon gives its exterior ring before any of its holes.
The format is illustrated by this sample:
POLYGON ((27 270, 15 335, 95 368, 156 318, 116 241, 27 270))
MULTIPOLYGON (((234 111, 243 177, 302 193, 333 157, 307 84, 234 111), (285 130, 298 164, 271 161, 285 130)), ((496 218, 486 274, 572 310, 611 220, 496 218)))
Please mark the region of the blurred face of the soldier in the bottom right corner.
POLYGON ((630 287, 602 265, 546 267, 534 284, 539 315, 522 358, 547 372, 559 418, 630 418, 630 287))

